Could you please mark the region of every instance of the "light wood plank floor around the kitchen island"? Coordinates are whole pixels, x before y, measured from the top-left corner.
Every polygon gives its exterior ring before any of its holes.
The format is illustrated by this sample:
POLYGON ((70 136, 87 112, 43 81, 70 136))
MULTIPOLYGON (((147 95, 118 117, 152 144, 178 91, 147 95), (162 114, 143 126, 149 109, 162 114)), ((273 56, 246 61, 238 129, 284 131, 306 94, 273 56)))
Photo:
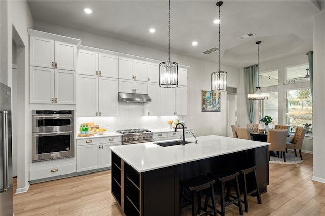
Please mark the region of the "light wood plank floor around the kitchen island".
MULTIPOLYGON (((312 181, 313 155, 304 154, 299 164, 270 164, 268 192, 262 205, 250 197, 244 215, 325 215, 325 184, 312 181)), ((32 184, 27 193, 14 195, 18 215, 122 215, 111 195, 111 172, 32 184)), ((16 190, 14 180, 14 191, 16 190)), ((220 208, 219 208, 220 209, 220 208)), ((184 215, 191 215, 185 208, 184 215)), ((183 215, 182 214, 182 215, 183 215)), ((227 215, 239 215, 233 205, 227 215)), ((166 215, 168 216, 168 215, 166 215)))

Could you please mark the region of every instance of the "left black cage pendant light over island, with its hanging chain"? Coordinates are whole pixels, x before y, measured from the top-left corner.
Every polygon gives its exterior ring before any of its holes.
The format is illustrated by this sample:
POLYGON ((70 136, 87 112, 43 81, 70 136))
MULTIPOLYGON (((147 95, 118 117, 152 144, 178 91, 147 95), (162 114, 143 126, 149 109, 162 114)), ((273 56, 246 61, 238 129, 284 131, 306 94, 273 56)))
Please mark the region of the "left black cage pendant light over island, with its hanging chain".
POLYGON ((168 1, 168 62, 159 64, 160 87, 173 88, 178 86, 178 64, 170 61, 170 28, 171 28, 171 1, 168 1))

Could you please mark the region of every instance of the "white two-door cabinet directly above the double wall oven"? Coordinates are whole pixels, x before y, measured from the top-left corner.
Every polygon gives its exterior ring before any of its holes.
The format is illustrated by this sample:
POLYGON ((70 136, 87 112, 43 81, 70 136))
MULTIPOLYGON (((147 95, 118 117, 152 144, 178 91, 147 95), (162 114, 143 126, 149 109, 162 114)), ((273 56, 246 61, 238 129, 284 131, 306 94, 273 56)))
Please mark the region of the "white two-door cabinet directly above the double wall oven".
POLYGON ((29 67, 29 102, 76 104, 76 74, 73 71, 29 67))

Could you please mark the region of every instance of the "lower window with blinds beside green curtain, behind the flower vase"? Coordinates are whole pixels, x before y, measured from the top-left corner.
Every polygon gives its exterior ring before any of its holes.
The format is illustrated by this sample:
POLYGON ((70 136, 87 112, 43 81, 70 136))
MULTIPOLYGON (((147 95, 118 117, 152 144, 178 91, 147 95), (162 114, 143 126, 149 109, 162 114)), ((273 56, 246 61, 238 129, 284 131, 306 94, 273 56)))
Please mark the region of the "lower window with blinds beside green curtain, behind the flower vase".
POLYGON ((269 92, 270 97, 267 100, 258 100, 256 101, 256 122, 259 122, 259 119, 263 118, 264 116, 268 115, 273 120, 273 125, 279 123, 279 100, 278 100, 278 92, 269 92))

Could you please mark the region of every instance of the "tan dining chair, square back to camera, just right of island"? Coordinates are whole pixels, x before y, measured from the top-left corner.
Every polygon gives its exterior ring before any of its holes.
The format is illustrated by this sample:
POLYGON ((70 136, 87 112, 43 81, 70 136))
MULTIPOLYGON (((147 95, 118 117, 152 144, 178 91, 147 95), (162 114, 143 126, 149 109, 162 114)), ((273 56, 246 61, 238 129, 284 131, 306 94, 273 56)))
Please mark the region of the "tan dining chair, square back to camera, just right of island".
MULTIPOLYGON (((286 138, 288 136, 287 129, 269 129, 268 130, 268 143, 269 151, 279 151, 281 154, 283 153, 283 160, 285 161, 285 147, 286 147, 286 138)), ((270 154, 269 154, 270 160, 270 154)))

